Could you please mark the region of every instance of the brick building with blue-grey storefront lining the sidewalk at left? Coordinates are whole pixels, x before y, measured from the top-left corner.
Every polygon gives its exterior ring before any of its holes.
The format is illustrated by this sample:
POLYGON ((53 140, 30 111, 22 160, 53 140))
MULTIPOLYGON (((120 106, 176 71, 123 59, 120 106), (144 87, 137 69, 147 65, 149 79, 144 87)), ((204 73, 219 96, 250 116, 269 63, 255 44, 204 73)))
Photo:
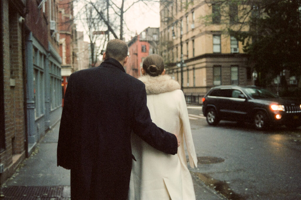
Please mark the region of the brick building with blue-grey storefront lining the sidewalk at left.
POLYGON ((0 17, 2 184, 60 119, 61 59, 55 0, 2 0, 0 17))

